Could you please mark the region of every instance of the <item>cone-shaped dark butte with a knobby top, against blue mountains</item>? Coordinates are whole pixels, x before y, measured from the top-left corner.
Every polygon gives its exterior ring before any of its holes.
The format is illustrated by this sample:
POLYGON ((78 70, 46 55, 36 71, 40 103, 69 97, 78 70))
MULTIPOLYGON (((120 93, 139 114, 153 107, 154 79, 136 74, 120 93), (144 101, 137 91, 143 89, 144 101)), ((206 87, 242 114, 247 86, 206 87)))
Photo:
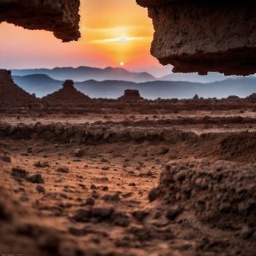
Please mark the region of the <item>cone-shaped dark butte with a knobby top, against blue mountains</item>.
POLYGON ((50 105, 83 105, 91 99, 74 87, 72 80, 65 80, 63 88, 42 98, 42 102, 50 105))

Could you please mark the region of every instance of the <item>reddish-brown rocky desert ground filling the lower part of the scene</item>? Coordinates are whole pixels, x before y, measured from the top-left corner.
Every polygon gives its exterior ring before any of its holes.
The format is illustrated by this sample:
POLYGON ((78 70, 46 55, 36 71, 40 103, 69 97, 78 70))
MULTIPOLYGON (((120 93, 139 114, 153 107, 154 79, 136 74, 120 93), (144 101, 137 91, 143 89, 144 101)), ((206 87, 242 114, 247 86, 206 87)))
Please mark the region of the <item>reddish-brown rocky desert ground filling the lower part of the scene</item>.
POLYGON ((3 255, 255 255, 252 108, 57 112, 1 113, 3 255))

